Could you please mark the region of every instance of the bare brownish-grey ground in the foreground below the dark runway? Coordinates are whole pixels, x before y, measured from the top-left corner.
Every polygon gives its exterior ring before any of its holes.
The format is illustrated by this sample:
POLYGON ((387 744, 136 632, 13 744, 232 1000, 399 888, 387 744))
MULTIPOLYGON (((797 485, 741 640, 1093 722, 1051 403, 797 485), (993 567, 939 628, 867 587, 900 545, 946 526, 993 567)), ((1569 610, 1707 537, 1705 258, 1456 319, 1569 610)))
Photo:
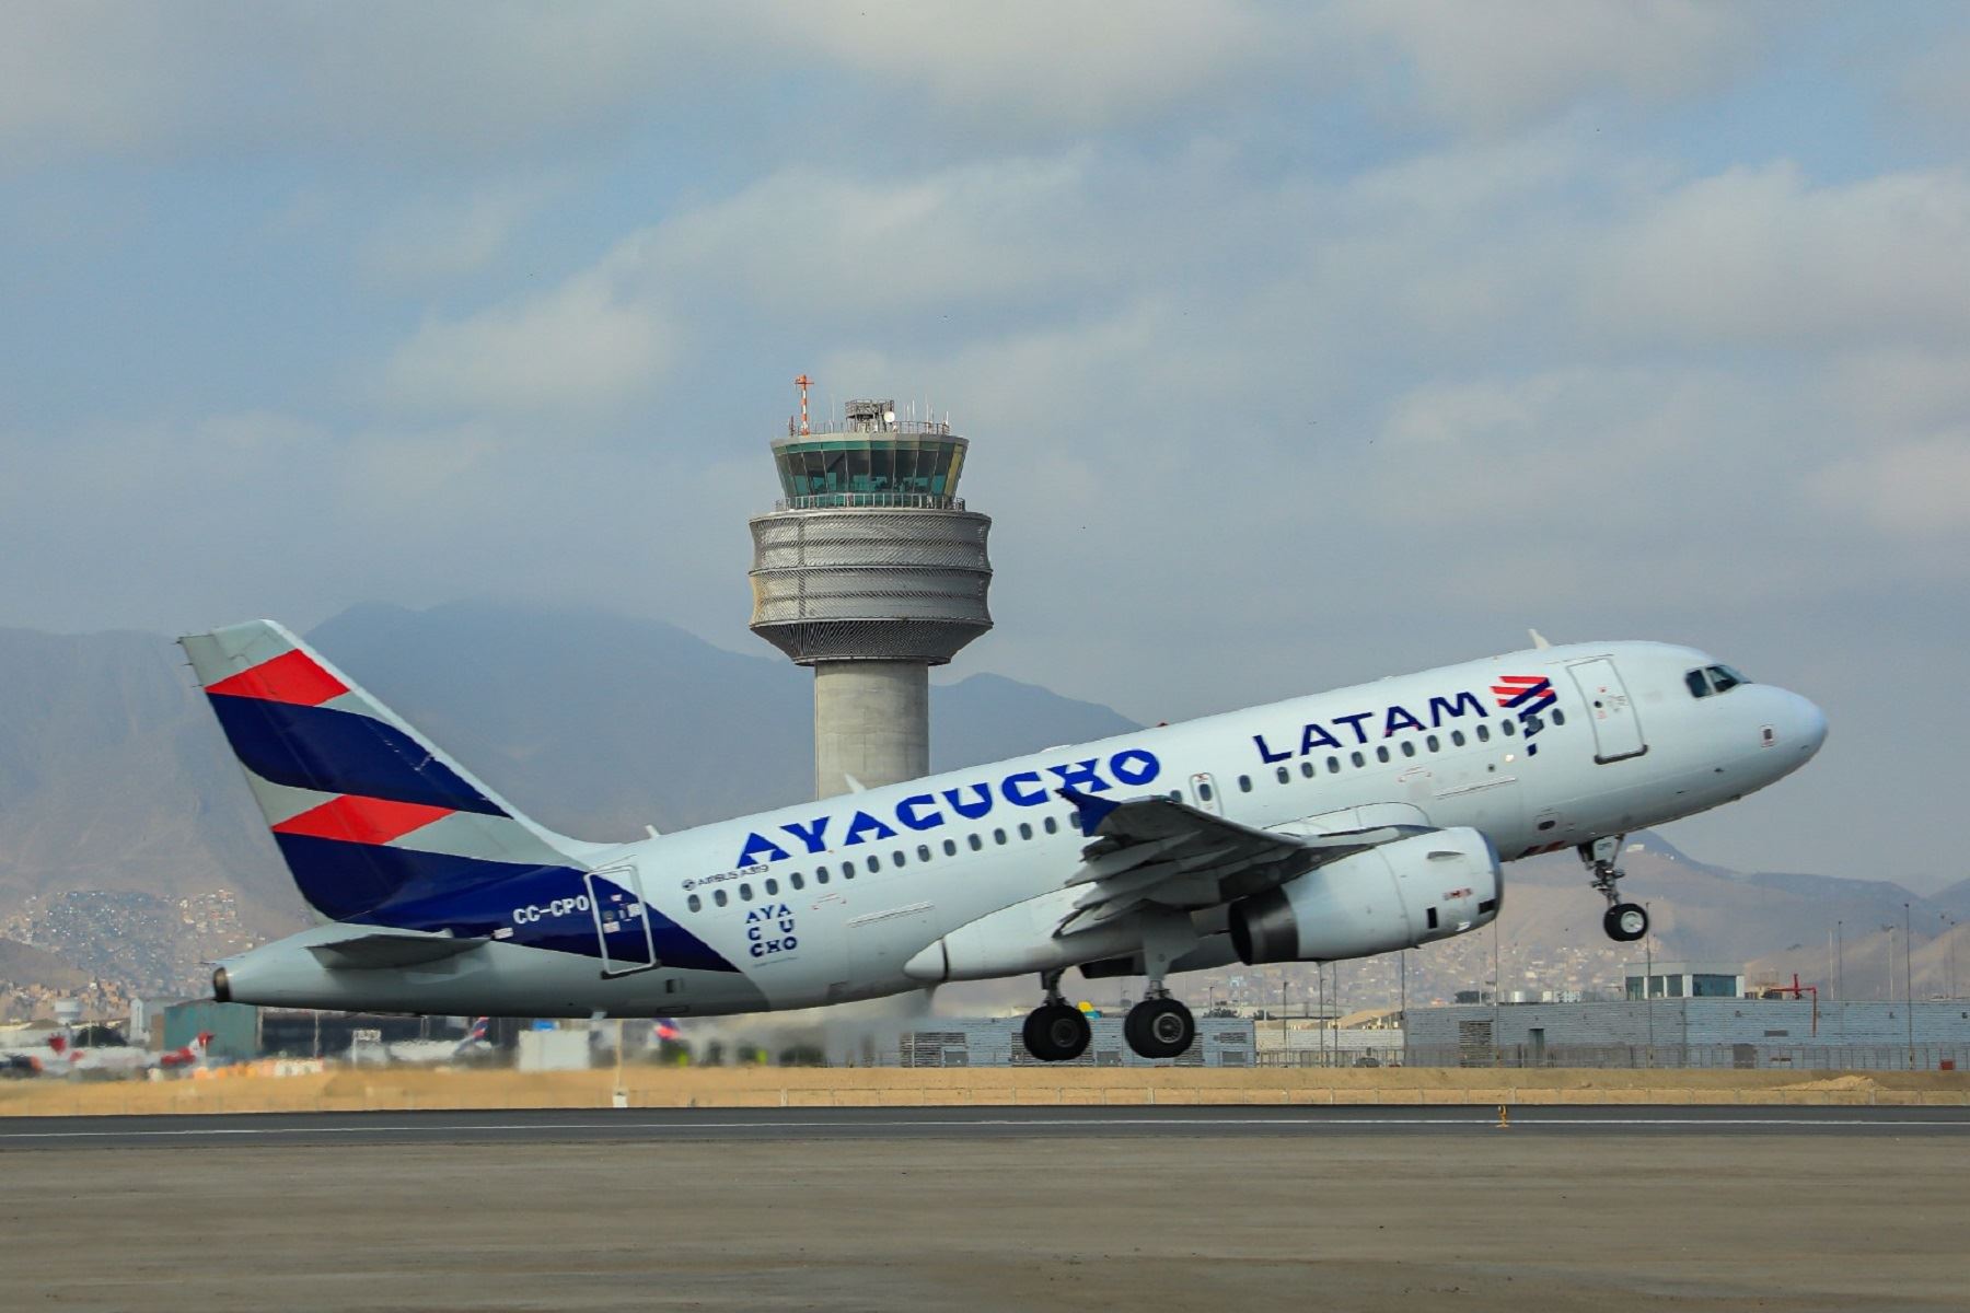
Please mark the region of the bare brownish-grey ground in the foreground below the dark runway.
POLYGON ((1966 1309, 1919 1138, 0 1156, 10 1309, 1966 1309))

